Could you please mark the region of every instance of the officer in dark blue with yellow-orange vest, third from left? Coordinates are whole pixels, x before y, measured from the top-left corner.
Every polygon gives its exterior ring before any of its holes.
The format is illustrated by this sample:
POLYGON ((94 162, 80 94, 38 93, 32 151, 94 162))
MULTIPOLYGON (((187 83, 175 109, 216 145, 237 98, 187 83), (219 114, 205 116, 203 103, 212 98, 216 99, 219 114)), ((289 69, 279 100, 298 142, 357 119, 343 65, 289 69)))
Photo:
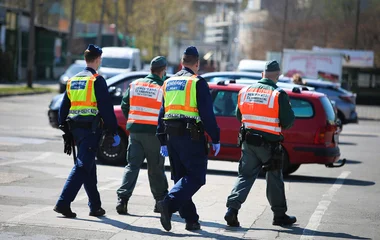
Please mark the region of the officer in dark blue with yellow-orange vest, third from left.
POLYGON ((187 230, 199 230, 199 216, 192 196, 206 183, 208 143, 212 139, 214 155, 220 150, 219 127, 213 112, 207 82, 197 75, 198 50, 190 46, 182 56, 182 70, 165 81, 157 136, 161 153, 169 155, 175 185, 158 202, 161 224, 171 229, 172 213, 179 211, 187 230))

